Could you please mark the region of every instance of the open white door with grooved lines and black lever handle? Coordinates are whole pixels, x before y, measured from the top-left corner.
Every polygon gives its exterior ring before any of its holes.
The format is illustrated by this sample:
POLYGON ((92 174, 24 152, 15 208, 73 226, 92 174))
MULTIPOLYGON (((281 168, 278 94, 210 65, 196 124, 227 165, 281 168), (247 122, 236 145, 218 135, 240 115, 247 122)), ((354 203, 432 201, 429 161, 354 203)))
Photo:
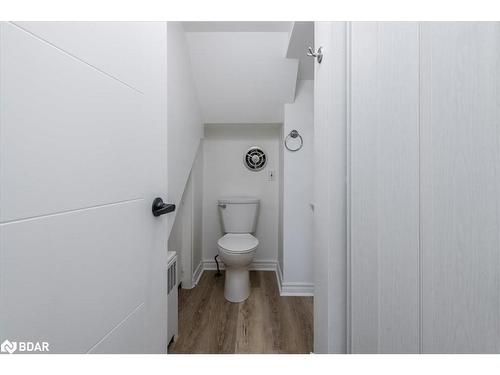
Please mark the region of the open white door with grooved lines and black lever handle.
POLYGON ((0 26, 0 341, 166 351, 165 23, 0 26))

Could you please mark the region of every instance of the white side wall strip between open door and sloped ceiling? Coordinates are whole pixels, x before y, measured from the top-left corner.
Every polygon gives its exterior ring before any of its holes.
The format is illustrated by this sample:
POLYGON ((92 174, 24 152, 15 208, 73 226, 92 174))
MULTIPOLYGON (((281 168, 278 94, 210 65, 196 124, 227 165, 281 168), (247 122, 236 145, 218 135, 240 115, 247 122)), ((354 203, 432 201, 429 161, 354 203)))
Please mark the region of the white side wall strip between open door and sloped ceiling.
MULTIPOLYGON (((168 22, 168 197, 179 204, 203 136, 200 106, 181 22, 168 22)), ((169 233, 177 212, 168 215, 169 233)))

